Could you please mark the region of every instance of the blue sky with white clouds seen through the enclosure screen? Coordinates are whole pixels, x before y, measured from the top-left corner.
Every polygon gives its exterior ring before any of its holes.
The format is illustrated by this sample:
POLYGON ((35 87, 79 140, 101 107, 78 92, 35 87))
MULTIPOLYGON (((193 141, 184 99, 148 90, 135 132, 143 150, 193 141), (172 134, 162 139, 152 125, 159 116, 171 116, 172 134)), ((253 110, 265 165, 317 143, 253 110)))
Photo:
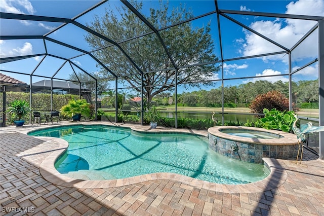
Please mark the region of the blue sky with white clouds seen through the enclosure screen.
MULTIPOLYGON (((0 0, 1 12, 7 13, 21 13, 33 14, 42 16, 58 16, 72 18, 83 12, 90 6, 96 4, 98 1, 10 1, 0 0)), ((194 16, 215 10, 214 1, 170 1, 170 7, 177 7, 180 4, 185 4, 186 8, 191 8, 194 16)), ((324 16, 324 1, 323 0, 299 0, 299 1, 218 1, 219 8, 224 10, 240 10, 240 11, 254 11, 254 12, 268 12, 268 13, 286 13, 286 14, 302 14, 324 16)), ((109 1, 101 7, 93 10, 91 13, 77 19, 78 22, 86 24, 93 20, 94 14, 103 14, 106 7, 120 7, 119 1, 109 1)), ((155 8, 158 1, 143 1, 143 14, 148 14, 148 8, 155 8)), ((241 23, 250 28, 261 32, 271 40, 291 48, 298 42, 303 35, 313 27, 314 21, 300 21, 275 19, 255 16, 241 16, 230 15, 232 18, 239 20, 241 23)), ((216 23, 216 16, 211 15, 192 22, 192 26, 203 26, 212 20, 212 36, 215 42, 215 54, 220 56, 219 52, 219 38, 216 23)), ((242 28, 241 26, 228 21, 221 17, 222 30, 222 44, 224 51, 224 58, 236 58, 242 56, 258 55, 268 52, 282 51, 281 48, 270 44, 258 35, 242 28)), ((1 20, 0 32, 2 35, 21 35, 21 34, 45 34, 49 30, 58 27, 60 23, 46 23, 46 22, 26 22, 16 20, 1 20)), ((54 34, 49 35, 50 38, 63 41, 86 51, 90 51, 90 47, 85 43, 84 30, 80 30, 72 24, 68 24, 61 28, 54 34)), ((317 57, 317 31, 313 32, 312 36, 303 42, 299 49, 296 49, 293 54, 293 70, 303 66, 305 63, 317 57)), ((68 48, 58 48, 52 43, 47 43, 48 52, 55 55, 62 55, 63 57, 72 57, 80 54, 68 48)), ((0 56, 20 56, 45 53, 44 43, 42 40, 11 40, 0 41, 0 56)), ((22 73, 30 74, 41 60, 41 57, 20 60, 10 63, 1 64, 3 70, 12 70, 22 73)), ((74 59, 74 62, 85 68, 89 72, 99 71, 96 62, 87 56, 82 56, 74 59)), ((64 63, 64 61, 52 57, 45 58, 42 66, 35 71, 36 75, 49 74, 50 76, 56 73, 57 69, 64 63)), ((310 65, 303 71, 299 72, 293 77, 294 81, 298 80, 314 80, 317 79, 318 71, 317 63, 310 65)), ((256 80, 268 80, 275 82, 277 80, 288 81, 287 76, 279 76, 272 78, 265 78, 262 76, 268 75, 283 75, 288 73, 288 56, 275 55, 260 57, 254 59, 244 59, 237 61, 226 61, 224 64, 224 78, 239 78, 252 77, 257 78, 238 79, 232 81, 225 81, 224 85, 239 85, 247 82, 255 82, 256 80)), ((13 73, 4 73, 18 80, 29 84, 29 76, 23 76, 13 73)), ((67 78, 72 70, 68 66, 63 66, 57 73, 56 78, 67 78)), ((220 79, 220 74, 215 74, 214 79, 220 79)), ((33 78, 32 82, 43 80, 44 78, 33 78)), ((179 88, 180 91, 182 88, 179 88)))

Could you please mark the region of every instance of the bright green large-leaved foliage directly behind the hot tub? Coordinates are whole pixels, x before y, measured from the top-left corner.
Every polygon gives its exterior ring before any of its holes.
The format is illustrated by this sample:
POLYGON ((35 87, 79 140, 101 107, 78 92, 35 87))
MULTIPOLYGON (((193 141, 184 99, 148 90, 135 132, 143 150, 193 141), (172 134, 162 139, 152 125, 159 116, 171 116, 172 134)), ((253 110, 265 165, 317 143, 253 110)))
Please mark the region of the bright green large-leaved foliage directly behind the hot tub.
POLYGON ((247 122, 245 126, 255 126, 262 127, 266 129, 274 129, 274 130, 282 130, 284 132, 291 132, 292 125, 295 121, 294 111, 278 111, 276 109, 272 109, 269 111, 268 109, 264 109, 263 113, 265 116, 263 118, 258 119, 255 122, 247 122))

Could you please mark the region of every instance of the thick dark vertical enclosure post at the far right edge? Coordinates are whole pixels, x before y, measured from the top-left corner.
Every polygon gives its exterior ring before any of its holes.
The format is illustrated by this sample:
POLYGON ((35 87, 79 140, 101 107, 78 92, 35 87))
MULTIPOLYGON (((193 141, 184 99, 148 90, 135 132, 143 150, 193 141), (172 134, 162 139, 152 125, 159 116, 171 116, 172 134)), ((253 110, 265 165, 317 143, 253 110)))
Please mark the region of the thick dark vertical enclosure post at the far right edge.
MULTIPOLYGON (((318 21, 319 126, 324 126, 324 19, 318 21)), ((319 132, 319 159, 324 160, 324 131, 319 132)))

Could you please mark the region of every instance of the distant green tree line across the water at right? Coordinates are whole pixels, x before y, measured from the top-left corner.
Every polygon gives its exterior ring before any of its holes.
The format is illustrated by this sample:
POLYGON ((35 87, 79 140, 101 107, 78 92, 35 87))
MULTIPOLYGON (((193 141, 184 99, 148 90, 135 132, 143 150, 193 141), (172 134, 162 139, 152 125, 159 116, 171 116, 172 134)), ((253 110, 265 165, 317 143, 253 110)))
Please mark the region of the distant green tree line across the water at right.
MULTIPOLYGON (((289 83, 277 81, 256 81, 241 84, 239 86, 224 87, 224 103, 251 103, 257 95, 265 94, 269 91, 277 90, 289 98, 289 83)), ((170 93, 162 93, 153 99, 159 105, 174 104, 175 96, 170 93), (170 99, 171 98, 171 99, 170 99)), ((292 99, 294 103, 316 103, 318 102, 318 79, 310 81, 292 82, 292 99)), ((194 106, 214 106, 222 103, 222 89, 199 90, 183 92, 178 94, 178 103, 194 106)))

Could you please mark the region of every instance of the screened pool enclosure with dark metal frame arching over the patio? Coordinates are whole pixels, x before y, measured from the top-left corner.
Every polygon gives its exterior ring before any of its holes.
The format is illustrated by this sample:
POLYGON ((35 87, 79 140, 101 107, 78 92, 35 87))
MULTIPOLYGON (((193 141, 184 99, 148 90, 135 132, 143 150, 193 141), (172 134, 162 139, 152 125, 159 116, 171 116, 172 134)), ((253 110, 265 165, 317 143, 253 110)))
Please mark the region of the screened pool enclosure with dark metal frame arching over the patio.
MULTIPOLYGON (((322 126, 324 3, 305 2, 4 0, 0 72, 26 83, 33 111, 58 110, 53 82, 68 81, 91 91, 95 120, 144 124, 155 105, 165 126, 206 129, 213 112, 219 125, 254 121, 249 104, 276 90, 322 126)), ((308 140, 324 159, 324 132, 308 140)))

